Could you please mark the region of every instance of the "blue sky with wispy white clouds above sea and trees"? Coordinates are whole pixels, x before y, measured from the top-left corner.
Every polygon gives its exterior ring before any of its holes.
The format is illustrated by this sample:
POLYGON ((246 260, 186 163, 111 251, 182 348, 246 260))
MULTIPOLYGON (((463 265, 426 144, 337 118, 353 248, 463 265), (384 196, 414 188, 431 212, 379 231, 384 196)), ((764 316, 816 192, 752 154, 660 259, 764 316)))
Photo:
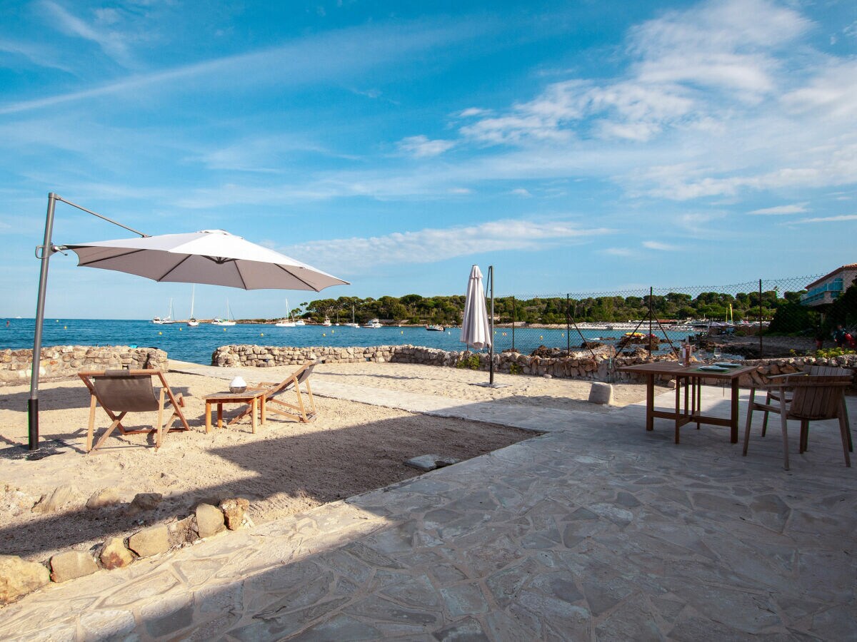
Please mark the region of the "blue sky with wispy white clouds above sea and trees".
MULTIPOLYGON (((32 317, 47 193, 226 229, 340 276, 283 299, 722 285, 857 260, 857 3, 3 3, 0 316, 32 317), (270 6, 277 5, 279 6, 270 6)), ((56 243, 127 235, 57 205, 56 243)), ((49 317, 189 285, 51 259, 49 317)))

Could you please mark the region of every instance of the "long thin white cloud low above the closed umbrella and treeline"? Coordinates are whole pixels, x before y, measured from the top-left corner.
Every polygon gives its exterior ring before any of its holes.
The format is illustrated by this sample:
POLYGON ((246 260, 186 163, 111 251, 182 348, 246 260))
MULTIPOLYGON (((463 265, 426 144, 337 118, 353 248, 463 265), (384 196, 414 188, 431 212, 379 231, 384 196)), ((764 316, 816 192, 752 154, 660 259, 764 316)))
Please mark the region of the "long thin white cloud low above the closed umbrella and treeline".
POLYGON ((297 259, 318 265, 342 265, 340 271, 359 272, 375 265, 436 263, 459 256, 510 250, 536 250, 607 235, 605 228, 581 228, 572 223, 538 223, 503 219, 447 229, 421 229, 369 238, 313 241, 286 247, 297 259), (310 261, 312 262, 312 261, 310 261))

